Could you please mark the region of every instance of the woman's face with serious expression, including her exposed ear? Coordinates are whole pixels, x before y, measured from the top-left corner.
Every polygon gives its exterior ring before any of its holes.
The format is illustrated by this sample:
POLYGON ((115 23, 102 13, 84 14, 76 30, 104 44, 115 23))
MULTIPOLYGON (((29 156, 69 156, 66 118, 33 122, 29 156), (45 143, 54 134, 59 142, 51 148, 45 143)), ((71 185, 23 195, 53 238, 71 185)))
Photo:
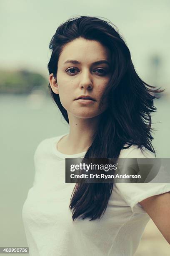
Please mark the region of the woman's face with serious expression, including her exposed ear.
POLYGON ((62 49, 58 60, 56 80, 50 74, 52 91, 59 94, 68 115, 93 118, 107 108, 100 99, 110 80, 110 50, 98 41, 77 38, 62 49), (77 99, 90 96, 93 100, 77 99))

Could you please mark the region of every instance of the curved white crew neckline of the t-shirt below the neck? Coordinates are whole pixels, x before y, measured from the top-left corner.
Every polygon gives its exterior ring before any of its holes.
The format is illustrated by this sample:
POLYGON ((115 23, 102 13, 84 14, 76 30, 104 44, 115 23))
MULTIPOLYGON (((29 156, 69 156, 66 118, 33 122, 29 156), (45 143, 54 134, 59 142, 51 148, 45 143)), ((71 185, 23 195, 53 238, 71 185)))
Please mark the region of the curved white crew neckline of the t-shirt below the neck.
POLYGON ((79 158, 79 157, 85 156, 85 153, 87 151, 84 151, 84 152, 81 152, 81 153, 77 153, 77 154, 73 154, 73 155, 67 155, 67 154, 63 154, 63 153, 61 153, 60 151, 57 150, 57 143, 60 141, 60 139, 62 137, 64 137, 67 134, 68 133, 65 133, 65 134, 63 134, 61 136, 57 136, 57 138, 55 137, 54 144, 53 144, 53 152, 54 152, 54 154, 57 155, 58 157, 62 158, 62 159, 65 159, 65 158, 79 158))

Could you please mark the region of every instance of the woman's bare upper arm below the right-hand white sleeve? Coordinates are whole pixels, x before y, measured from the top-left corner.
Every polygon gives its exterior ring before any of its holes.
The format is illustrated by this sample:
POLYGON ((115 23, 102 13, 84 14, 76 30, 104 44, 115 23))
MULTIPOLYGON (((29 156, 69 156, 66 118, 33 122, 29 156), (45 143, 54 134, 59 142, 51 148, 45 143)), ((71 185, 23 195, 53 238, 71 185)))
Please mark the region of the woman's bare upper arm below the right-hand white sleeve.
POLYGON ((170 192, 139 202, 170 244, 170 192))

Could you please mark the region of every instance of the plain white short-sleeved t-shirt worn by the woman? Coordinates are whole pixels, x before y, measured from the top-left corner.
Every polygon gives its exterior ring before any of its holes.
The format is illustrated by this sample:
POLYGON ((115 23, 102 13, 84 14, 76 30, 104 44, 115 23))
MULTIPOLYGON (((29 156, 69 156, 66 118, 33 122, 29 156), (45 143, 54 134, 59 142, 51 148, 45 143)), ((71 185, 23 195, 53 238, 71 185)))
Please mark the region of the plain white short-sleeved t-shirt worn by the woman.
MULTIPOLYGON (((57 151, 62 136, 41 141, 35 151, 35 179, 23 205, 30 256, 132 256, 150 220, 138 202, 169 192, 170 184, 116 183, 100 220, 79 218, 73 223, 69 204, 75 184, 65 184, 65 158, 82 158, 85 152, 57 151)), ((119 157, 154 155, 133 145, 122 149, 119 157)))

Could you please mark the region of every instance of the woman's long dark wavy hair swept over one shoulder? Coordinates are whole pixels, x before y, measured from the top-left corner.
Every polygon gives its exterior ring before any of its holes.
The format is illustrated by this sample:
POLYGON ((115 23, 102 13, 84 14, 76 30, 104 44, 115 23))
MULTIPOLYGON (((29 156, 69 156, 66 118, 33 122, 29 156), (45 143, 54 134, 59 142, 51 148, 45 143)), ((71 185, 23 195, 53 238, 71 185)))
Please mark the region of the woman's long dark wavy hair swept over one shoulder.
MULTIPOLYGON (((158 98, 157 93, 163 90, 156 89, 140 79, 133 66, 128 46, 112 22, 97 17, 80 16, 62 23, 50 41, 52 53, 48 63, 49 74, 53 73, 56 78, 57 63, 63 47, 80 37, 98 41, 110 49, 112 65, 112 76, 100 101, 101 106, 107 97, 108 108, 100 115, 99 125, 92 135, 91 146, 83 160, 117 159, 122 148, 129 148, 133 144, 141 150, 145 147, 155 154, 151 143, 153 129, 150 113, 156 110, 154 98, 158 98)), ((50 84, 48 88, 52 99, 69 123, 67 110, 63 108, 59 95, 51 90, 50 84)), ((77 183, 70 201, 72 219, 101 218, 112 188, 113 183, 77 183)))

